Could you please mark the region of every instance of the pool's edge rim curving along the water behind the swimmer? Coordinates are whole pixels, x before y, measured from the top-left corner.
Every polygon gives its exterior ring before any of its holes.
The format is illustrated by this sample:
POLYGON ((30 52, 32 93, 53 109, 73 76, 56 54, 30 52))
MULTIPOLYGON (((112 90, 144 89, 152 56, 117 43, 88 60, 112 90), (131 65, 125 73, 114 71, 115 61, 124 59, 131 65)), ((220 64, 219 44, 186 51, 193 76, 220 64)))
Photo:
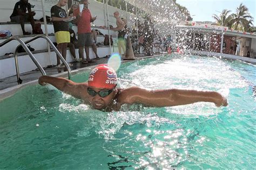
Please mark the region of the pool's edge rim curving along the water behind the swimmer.
MULTIPOLYGON (((177 54, 177 53, 176 53, 177 54)), ((199 51, 190 51, 190 54, 196 54, 196 55, 208 55, 208 56, 219 56, 220 53, 205 53, 205 52, 199 52, 199 51)), ((145 59, 145 58, 154 58, 156 56, 162 56, 160 55, 152 55, 152 56, 141 56, 138 55, 135 57, 135 60, 145 59)), ((223 55, 223 58, 225 59, 232 59, 232 60, 241 60, 250 62, 253 64, 256 64, 256 59, 252 58, 245 58, 242 56, 232 56, 232 55, 223 55)), ((109 58, 100 58, 99 60, 95 60, 96 62, 91 63, 81 63, 81 62, 73 62, 73 66, 70 67, 72 75, 83 72, 84 70, 91 70, 96 65, 107 63, 109 58)), ((122 60, 122 62, 129 62, 134 60, 122 60)), ((45 68, 46 75, 52 75, 56 77, 68 77, 68 73, 63 71, 62 69, 58 69, 56 67, 51 68, 45 68)), ((4 79, 0 79, 0 101, 4 100, 4 98, 7 98, 21 88, 24 88, 29 85, 38 84, 38 78, 42 76, 41 72, 39 70, 33 70, 31 72, 26 72, 20 75, 20 78, 22 79, 22 84, 17 83, 17 76, 11 76, 6 77, 4 79)))

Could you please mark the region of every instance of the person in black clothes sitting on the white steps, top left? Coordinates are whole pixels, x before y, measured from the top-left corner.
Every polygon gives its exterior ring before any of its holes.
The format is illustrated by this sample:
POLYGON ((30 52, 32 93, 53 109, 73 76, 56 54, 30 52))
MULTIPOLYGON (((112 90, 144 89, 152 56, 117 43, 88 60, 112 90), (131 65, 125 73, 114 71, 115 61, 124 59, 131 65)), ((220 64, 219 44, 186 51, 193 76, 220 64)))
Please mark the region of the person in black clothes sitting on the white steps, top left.
POLYGON ((15 4, 14 11, 10 16, 10 19, 11 19, 11 22, 21 24, 23 35, 29 35, 31 33, 25 31, 24 23, 30 22, 32 26, 32 32, 35 32, 35 22, 33 18, 33 16, 35 15, 36 15, 36 12, 31 11, 31 4, 28 3, 28 0, 21 0, 15 4))

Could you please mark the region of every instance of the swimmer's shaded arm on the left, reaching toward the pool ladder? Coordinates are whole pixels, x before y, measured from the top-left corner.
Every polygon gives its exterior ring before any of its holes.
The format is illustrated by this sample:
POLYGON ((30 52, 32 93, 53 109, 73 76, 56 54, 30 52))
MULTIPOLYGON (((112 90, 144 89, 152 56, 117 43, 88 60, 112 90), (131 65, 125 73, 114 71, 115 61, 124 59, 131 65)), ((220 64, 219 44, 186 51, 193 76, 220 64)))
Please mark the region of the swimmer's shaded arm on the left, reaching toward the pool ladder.
POLYGON ((84 98, 84 93, 82 92, 86 91, 87 88, 86 83, 76 83, 62 77, 51 77, 45 75, 39 78, 38 83, 42 86, 46 85, 46 83, 49 83, 60 91, 63 91, 64 93, 76 98, 84 98))

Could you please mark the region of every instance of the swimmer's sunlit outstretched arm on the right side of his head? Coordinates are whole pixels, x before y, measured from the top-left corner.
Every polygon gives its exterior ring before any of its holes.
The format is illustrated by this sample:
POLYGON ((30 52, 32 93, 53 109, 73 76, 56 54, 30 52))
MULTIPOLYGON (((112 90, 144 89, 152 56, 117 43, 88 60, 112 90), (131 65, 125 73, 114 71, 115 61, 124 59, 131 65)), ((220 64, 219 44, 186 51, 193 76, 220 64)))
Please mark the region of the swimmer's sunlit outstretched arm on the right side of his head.
POLYGON ((227 106, 227 100, 215 91, 197 90, 146 90, 138 87, 123 91, 123 102, 141 103, 151 107, 170 107, 196 102, 212 102, 217 107, 227 106))

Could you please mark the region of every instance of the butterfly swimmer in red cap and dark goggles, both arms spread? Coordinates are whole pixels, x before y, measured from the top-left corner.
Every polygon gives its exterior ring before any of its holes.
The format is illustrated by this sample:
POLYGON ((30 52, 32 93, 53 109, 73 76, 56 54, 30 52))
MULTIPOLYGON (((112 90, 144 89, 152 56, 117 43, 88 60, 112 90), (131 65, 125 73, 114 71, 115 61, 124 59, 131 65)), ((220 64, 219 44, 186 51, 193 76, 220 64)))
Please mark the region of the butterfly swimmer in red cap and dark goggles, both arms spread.
POLYGON ((84 83, 61 77, 41 76, 38 83, 52 84, 60 91, 80 98, 85 104, 104 111, 118 111, 123 104, 139 103, 146 107, 172 107, 196 102, 212 102, 217 107, 227 106, 227 100, 215 91, 146 90, 140 87, 117 88, 117 74, 108 65, 98 65, 84 83))

